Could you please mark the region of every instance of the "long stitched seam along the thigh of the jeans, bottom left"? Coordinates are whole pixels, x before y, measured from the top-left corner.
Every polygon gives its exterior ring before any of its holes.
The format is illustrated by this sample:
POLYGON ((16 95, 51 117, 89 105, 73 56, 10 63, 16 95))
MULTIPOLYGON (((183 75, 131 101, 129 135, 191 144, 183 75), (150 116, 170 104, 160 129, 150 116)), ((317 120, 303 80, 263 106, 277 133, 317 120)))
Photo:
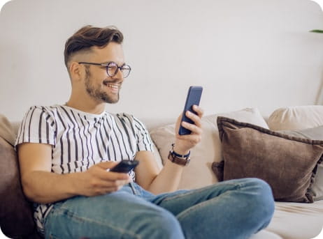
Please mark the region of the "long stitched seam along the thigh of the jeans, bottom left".
POLYGON ((64 208, 64 206, 62 206, 61 208, 57 208, 56 210, 57 210, 57 214, 62 213, 62 214, 67 215, 68 217, 71 217, 72 219, 80 219, 81 221, 92 222, 92 223, 98 224, 100 226, 108 226, 110 229, 118 231, 118 232, 120 232, 122 234, 127 234, 129 236, 132 236, 133 238, 141 239, 140 236, 138 236, 136 233, 132 233, 131 231, 129 231, 129 229, 125 230, 125 229, 122 229, 120 227, 114 226, 112 224, 101 223, 101 222, 99 222, 99 221, 97 221, 95 219, 90 219, 88 217, 80 217, 76 213, 73 213, 73 212, 69 211, 68 208, 64 208))

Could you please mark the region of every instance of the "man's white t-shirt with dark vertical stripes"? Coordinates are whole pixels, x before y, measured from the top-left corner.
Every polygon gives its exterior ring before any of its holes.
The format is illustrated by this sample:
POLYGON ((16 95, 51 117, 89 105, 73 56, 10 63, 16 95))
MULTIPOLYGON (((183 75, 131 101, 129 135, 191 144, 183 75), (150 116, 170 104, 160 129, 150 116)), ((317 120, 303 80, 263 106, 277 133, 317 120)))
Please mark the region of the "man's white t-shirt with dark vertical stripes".
MULTIPOLYGON (((34 106, 20 125, 15 145, 52 145, 52 172, 86 171, 104 161, 134 160, 138 151, 152 151, 152 141, 141 121, 129 114, 89 114, 65 105, 34 106)), ((134 180, 134 171, 130 173, 134 180)), ((34 204, 34 219, 43 222, 52 203, 34 204)))

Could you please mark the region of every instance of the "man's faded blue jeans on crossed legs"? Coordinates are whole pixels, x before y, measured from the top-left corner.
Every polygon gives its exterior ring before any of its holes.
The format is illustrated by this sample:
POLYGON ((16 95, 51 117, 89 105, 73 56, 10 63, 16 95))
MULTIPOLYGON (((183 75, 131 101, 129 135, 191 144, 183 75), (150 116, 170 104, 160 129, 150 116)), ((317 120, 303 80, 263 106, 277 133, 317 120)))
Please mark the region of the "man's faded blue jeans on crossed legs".
POLYGON ((273 216, 263 180, 228 180, 199 190, 154 195, 136 183, 102 196, 55 203, 45 238, 249 238, 273 216))

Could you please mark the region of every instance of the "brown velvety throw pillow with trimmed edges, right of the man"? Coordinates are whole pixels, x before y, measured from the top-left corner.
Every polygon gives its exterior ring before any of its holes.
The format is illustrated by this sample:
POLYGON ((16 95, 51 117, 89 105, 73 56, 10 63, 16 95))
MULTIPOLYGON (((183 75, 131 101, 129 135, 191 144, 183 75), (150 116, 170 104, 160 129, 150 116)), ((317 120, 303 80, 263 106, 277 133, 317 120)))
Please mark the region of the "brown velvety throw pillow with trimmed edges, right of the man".
POLYGON ((313 203, 313 180, 322 162, 323 141, 293 137, 218 117, 223 165, 213 164, 216 176, 261 178, 273 190, 276 201, 313 203))

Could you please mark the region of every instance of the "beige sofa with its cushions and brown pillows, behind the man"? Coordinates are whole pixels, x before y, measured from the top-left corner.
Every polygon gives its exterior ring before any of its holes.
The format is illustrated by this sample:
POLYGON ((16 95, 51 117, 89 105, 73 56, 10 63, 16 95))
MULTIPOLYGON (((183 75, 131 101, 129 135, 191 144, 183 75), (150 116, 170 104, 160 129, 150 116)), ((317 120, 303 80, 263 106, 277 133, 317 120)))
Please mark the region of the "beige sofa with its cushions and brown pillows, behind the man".
MULTIPOLYGON (((173 143, 175 121, 142 121, 161 169, 173 143)), ((323 106, 317 105, 283 107, 267 117, 255 108, 203 116, 203 136, 192 149, 179 189, 250 176, 268 180, 275 213, 252 239, 315 238, 323 226, 322 125, 323 106)), ((40 238, 20 184, 13 148, 18 127, 19 122, 0 116, 0 226, 9 238, 40 238)))

